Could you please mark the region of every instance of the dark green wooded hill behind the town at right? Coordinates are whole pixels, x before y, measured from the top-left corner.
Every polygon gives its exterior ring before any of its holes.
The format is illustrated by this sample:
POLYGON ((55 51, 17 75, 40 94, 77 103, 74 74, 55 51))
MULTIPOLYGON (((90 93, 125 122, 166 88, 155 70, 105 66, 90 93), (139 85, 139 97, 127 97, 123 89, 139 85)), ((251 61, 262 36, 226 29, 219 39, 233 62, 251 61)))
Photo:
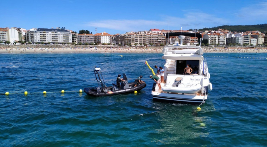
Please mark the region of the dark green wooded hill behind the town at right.
MULTIPOLYGON (((267 31, 267 23, 258 24, 258 25, 237 25, 237 26, 223 25, 223 26, 217 26, 217 27, 213 27, 213 28, 198 29, 198 31, 205 31, 205 30, 217 31, 218 29, 225 29, 225 30, 237 31, 237 32, 257 31, 257 30, 261 31, 261 32, 266 32, 267 31)), ((193 31, 193 29, 190 29, 189 31, 193 31)))

